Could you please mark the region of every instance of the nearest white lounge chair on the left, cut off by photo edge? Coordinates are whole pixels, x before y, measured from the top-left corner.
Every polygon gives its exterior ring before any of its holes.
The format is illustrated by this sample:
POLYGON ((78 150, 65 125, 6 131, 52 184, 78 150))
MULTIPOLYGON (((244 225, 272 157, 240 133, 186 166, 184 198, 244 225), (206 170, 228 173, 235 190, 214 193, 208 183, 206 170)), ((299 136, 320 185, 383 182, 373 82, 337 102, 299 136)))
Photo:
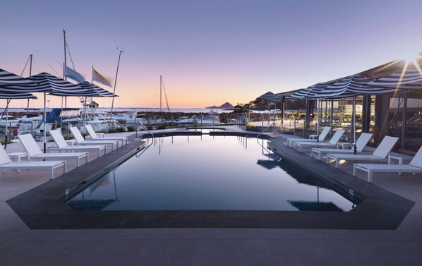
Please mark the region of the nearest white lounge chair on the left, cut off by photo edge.
POLYGON ((47 169, 49 170, 49 178, 53 179, 53 171, 59 167, 63 167, 63 174, 66 173, 66 161, 12 162, 4 147, 0 145, 0 170, 47 169))

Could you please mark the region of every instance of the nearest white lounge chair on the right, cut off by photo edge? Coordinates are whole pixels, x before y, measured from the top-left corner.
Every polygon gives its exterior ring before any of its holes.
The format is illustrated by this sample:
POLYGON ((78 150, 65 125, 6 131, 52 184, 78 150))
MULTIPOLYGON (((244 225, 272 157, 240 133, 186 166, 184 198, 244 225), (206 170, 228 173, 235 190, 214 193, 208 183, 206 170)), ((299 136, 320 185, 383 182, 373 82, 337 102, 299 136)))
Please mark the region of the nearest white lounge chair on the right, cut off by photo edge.
POLYGON ((356 170, 366 171, 368 173, 368 182, 372 182, 373 172, 384 173, 422 173, 422 146, 409 164, 354 164, 353 175, 356 176, 356 170))

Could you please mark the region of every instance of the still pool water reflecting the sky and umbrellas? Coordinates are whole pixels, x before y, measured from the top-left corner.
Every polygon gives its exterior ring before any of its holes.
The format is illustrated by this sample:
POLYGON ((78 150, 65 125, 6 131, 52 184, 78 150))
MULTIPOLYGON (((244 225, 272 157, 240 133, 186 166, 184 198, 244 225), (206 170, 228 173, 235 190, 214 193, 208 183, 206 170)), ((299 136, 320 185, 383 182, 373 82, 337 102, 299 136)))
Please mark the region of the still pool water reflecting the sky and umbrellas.
POLYGON ((147 148, 66 204, 75 210, 334 210, 354 202, 267 150, 267 140, 190 135, 147 148))

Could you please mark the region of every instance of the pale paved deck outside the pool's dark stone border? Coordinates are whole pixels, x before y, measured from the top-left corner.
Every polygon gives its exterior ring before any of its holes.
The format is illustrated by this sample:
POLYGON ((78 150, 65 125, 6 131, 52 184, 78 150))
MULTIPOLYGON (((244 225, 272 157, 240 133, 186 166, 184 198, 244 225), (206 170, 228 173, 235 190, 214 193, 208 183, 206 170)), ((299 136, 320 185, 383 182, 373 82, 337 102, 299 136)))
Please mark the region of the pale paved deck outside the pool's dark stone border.
MULTIPOLYGON (((228 131, 243 133, 236 127, 229 127, 228 131)), ((277 142, 282 142, 281 136, 277 142)), ((7 147, 8 152, 21 149, 19 143, 7 147)), ((306 153, 287 152, 302 158, 303 162, 311 159, 306 153)), ((106 156, 111 157, 111 154, 106 156)), ((74 167, 69 165, 70 169, 74 167)), ((344 173, 345 177, 350 168, 343 166, 344 172, 325 164, 318 165, 321 171, 338 176, 344 173)), ((397 228, 388 230, 30 229, 6 200, 42 184, 45 186, 48 180, 44 175, 43 171, 32 170, 1 174, 0 265, 422 265, 421 175, 374 175, 373 184, 368 186, 378 186, 387 193, 401 196, 404 201, 414 202, 408 213, 397 214, 404 216, 397 228)), ((356 186, 365 186, 362 180, 356 179, 356 186)), ((46 215, 54 217, 54 213, 46 215)), ((394 217, 395 213, 390 215, 394 217)), ((99 218, 98 223, 101 222, 99 218)))

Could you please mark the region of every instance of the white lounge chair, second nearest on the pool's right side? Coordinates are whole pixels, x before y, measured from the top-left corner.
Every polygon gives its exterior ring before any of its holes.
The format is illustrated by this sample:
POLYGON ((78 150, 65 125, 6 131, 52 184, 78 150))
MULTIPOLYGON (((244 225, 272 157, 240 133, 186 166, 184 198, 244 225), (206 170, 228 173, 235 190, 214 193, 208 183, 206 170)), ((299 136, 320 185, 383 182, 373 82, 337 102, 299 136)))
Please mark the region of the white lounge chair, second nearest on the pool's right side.
POLYGON ((327 154, 327 164, 330 164, 330 160, 334 160, 335 167, 338 168, 339 161, 342 159, 346 161, 383 161, 394 145, 396 145, 397 140, 399 140, 399 138, 386 135, 372 155, 344 155, 339 153, 329 153, 327 154))

